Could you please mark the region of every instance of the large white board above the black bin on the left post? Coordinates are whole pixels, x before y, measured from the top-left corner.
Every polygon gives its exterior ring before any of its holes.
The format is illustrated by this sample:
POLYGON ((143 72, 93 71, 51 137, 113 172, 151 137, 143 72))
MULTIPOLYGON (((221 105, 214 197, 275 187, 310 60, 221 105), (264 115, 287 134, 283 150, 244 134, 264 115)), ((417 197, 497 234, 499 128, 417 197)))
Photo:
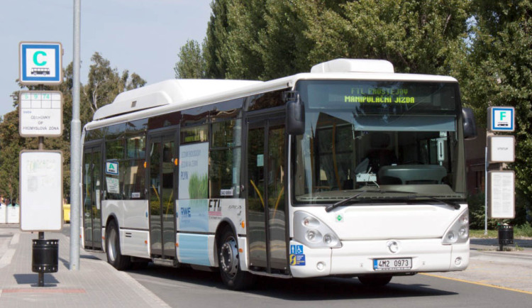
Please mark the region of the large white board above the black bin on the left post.
POLYGON ((62 229, 62 152, 22 150, 20 202, 22 231, 62 229))

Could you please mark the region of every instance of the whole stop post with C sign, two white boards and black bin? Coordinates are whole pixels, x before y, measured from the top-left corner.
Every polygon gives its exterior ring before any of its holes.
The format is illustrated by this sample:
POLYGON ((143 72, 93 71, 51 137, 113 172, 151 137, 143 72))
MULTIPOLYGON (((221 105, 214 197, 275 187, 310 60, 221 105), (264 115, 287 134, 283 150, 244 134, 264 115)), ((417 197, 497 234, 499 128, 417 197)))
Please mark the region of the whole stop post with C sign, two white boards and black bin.
MULTIPOLYGON (((30 85, 62 83, 62 45, 21 42, 18 45, 19 81, 30 85)), ((22 91, 19 134, 38 137, 39 150, 20 154, 21 230, 38 231, 33 240, 32 271, 44 287, 44 273, 58 269, 59 240, 45 240, 45 231, 62 229, 62 153, 44 150, 44 137, 62 136, 62 94, 53 91, 22 91)))

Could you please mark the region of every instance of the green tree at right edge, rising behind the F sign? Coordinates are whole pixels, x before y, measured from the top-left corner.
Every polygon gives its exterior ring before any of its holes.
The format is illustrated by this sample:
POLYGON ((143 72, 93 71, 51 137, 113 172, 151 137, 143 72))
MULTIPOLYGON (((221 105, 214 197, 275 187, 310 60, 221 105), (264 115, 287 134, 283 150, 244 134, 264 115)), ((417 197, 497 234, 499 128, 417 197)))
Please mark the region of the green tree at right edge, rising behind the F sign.
MULTIPOLYGON (((472 1, 470 53, 457 65, 463 99, 474 106, 485 127, 489 106, 516 109, 518 200, 532 197, 532 1, 472 1)), ((516 202, 517 203, 517 202, 516 202)), ((523 207, 525 204, 516 204, 523 207)))

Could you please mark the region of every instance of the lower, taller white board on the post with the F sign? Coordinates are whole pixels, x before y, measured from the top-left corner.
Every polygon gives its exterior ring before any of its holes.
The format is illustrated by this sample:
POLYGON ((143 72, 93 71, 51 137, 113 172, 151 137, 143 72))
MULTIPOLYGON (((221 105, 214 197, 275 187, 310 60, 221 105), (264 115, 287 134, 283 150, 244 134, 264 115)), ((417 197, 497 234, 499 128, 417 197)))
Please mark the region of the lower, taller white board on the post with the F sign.
POLYGON ((511 170, 488 172, 488 216, 513 219, 515 211, 515 173, 511 170))

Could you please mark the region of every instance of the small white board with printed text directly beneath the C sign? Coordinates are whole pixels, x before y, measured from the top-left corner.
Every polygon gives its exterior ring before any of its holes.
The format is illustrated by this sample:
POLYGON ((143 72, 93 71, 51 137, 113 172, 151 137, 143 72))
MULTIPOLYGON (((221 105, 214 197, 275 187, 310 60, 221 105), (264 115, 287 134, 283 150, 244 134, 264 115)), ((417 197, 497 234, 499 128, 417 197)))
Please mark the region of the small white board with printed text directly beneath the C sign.
POLYGON ((21 91, 18 113, 21 137, 62 136, 62 101, 59 91, 21 91))

